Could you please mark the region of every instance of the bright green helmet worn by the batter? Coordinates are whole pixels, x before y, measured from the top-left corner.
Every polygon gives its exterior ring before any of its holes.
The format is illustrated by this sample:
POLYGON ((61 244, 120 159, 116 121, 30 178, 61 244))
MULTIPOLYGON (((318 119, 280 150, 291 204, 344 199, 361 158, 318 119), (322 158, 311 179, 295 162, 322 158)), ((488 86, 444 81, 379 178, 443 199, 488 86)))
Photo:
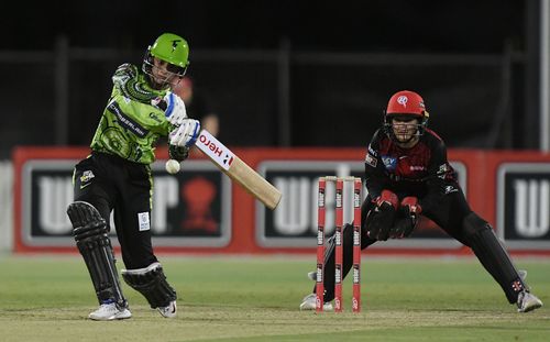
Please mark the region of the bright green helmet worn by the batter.
POLYGON ((187 41, 177 34, 163 33, 161 34, 153 45, 147 47, 145 57, 143 58, 142 69, 150 77, 154 77, 153 68, 154 57, 162 59, 167 65, 168 76, 164 80, 163 86, 168 86, 169 80, 177 77, 184 77, 187 66, 189 65, 189 45, 187 41))

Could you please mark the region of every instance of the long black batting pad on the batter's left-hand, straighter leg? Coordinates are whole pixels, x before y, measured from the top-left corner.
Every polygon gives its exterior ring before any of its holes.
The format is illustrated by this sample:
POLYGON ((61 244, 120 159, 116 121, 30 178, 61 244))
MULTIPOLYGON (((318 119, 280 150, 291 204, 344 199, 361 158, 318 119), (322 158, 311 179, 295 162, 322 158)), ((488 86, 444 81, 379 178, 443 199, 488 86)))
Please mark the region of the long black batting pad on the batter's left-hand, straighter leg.
POLYGON ((67 214, 73 223, 73 234, 90 273, 99 302, 113 300, 120 307, 125 307, 127 301, 122 296, 105 219, 94 206, 82 201, 69 205, 67 214))

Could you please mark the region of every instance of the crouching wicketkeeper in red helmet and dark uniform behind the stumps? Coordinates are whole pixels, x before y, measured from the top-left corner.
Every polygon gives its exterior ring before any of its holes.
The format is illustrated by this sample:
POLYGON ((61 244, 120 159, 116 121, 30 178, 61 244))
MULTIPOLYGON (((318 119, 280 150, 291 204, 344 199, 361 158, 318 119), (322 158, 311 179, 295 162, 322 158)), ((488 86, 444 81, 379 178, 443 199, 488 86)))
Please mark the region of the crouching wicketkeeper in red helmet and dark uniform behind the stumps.
MULTIPOLYGON (((427 128, 428 118, 422 98, 414 91, 399 91, 389 99, 384 125, 374 133, 365 157, 369 196, 362 206, 361 247, 408 236, 422 214, 472 249, 501 285, 508 301, 517 305, 518 312, 540 308, 542 301, 529 291, 493 228, 466 202, 447 159, 443 141, 427 128)), ((343 231, 344 276, 352 266, 352 238, 353 228, 346 224, 343 231)), ((324 262, 324 309, 330 310, 330 301, 334 298, 332 238, 324 262)), ((306 296, 300 305, 302 310, 315 307, 315 294, 306 296)))

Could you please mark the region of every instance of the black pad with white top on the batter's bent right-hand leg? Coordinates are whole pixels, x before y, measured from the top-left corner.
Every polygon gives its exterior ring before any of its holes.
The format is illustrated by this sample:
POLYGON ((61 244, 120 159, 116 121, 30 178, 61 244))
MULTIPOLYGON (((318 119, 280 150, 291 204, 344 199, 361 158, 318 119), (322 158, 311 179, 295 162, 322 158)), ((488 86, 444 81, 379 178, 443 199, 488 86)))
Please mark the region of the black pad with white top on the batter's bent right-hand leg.
POLYGON ((160 263, 153 263, 145 268, 122 269, 122 278, 130 287, 142 294, 153 309, 166 307, 177 298, 160 263))

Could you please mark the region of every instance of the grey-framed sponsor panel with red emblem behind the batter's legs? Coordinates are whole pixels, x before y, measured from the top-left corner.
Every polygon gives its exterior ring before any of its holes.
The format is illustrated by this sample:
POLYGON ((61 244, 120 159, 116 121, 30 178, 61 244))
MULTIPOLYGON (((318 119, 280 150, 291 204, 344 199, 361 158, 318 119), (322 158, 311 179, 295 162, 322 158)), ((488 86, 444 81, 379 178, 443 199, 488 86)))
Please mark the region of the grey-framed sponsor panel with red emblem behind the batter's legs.
MULTIPOLYGON (((66 214, 73 201, 76 159, 29 159, 21 177, 21 241, 24 246, 74 246, 66 214)), ((208 161, 188 161, 170 175, 165 161, 152 165, 153 210, 140 213, 155 247, 223 247, 231 240, 231 181, 208 161)), ((142 229, 140 225, 140 229, 142 229)), ((114 227, 111 217, 111 227, 114 227)), ((113 232, 111 232, 113 234, 113 232)), ((117 239, 112 239, 114 245, 117 239)))

